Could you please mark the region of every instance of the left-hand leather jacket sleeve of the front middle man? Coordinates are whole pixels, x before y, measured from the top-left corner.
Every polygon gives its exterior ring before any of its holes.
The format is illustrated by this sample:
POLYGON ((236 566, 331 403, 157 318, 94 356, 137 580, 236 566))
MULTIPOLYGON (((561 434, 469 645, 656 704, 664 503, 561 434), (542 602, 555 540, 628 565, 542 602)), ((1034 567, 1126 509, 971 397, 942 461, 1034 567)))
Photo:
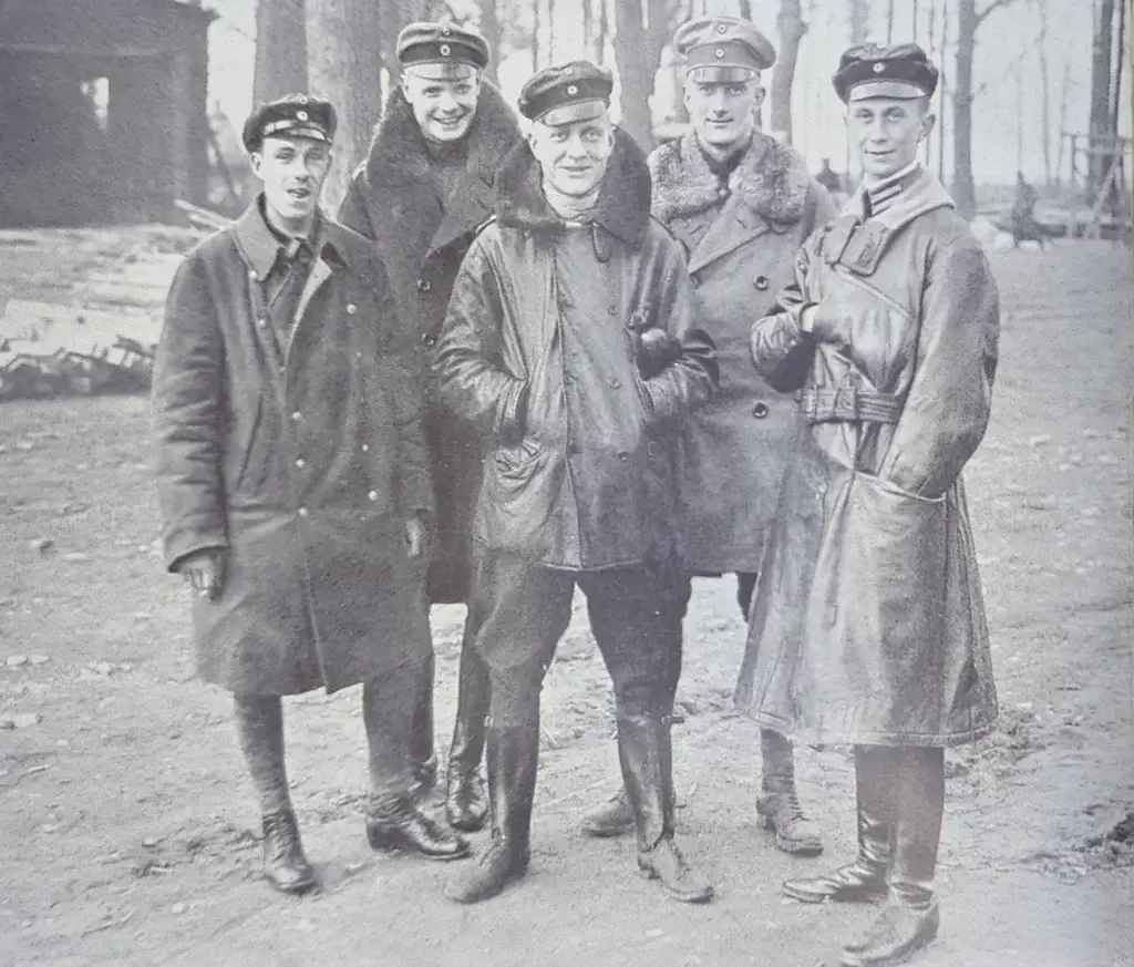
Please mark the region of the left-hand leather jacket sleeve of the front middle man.
POLYGON ((481 236, 460 263, 432 366, 449 409, 494 436, 518 436, 527 381, 500 362, 502 321, 500 281, 481 236))

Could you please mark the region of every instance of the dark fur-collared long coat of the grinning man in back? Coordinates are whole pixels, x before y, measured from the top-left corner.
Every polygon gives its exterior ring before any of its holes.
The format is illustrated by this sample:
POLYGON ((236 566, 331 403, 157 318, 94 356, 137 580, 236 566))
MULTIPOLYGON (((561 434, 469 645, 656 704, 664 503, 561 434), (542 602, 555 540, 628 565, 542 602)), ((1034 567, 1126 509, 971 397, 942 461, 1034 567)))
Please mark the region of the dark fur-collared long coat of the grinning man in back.
POLYGON ((485 444, 475 427, 441 405, 428 357, 460 262, 476 229, 492 217, 497 169, 519 138, 511 109, 482 80, 465 143, 446 149, 463 160, 450 195, 398 86, 339 211, 345 224, 378 245, 398 317, 422 350, 425 439, 437 497, 428 583, 434 602, 464 601, 468 593, 469 534, 485 444))

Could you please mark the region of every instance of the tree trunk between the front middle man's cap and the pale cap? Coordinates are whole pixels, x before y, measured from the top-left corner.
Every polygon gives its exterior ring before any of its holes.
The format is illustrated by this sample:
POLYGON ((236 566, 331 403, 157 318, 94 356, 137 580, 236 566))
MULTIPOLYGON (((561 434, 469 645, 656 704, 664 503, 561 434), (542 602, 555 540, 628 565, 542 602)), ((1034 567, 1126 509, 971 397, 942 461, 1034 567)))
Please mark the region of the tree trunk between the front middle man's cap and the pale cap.
POLYGON ((650 97, 661 62, 661 50, 669 39, 666 0, 618 0, 615 5, 615 63, 621 85, 619 126, 651 151, 653 114, 650 97), (649 12, 649 22, 645 14, 649 12))

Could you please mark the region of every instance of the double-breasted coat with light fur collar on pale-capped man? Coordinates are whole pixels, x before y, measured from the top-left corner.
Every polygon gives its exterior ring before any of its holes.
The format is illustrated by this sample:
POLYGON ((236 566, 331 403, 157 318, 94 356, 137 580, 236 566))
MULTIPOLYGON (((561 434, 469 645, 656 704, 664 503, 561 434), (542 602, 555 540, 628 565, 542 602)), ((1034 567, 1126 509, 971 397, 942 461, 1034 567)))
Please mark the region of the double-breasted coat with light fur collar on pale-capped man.
POLYGON ((754 572, 776 511, 797 408, 753 368, 752 321, 771 312, 804 239, 835 215, 790 147, 756 133, 722 187, 693 132, 650 155, 653 213, 684 246, 697 325, 720 387, 685 427, 683 553, 699 574, 754 572))

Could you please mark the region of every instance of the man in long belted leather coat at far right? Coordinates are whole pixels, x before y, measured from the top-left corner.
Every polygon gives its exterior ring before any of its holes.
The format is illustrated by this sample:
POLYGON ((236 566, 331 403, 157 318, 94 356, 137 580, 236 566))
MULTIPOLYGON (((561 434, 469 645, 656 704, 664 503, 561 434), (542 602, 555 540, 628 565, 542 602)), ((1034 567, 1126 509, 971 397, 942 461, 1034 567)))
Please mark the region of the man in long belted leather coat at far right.
POLYGON ((988 424, 999 308, 983 252, 917 163, 937 69, 852 48, 835 75, 863 185, 809 241, 756 367, 803 427, 752 608, 742 710, 855 746, 858 857, 785 883, 809 902, 889 894, 846 967, 905 961, 938 930, 946 746, 997 714, 962 469, 988 424))

